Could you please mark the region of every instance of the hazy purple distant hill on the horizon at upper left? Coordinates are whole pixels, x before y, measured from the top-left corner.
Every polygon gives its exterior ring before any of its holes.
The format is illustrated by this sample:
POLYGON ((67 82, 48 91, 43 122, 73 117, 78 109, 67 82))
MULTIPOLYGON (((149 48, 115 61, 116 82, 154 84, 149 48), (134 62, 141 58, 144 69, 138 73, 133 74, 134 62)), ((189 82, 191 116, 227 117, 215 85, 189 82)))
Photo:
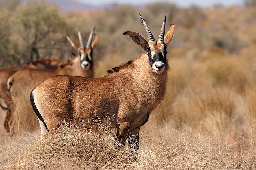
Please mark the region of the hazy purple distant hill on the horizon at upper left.
MULTIPOLYGON (((27 0, 21 0, 21 2, 26 2, 27 0)), ((34 0, 38 1, 38 0, 34 0)), ((93 6, 84 3, 80 3, 74 0, 46 0, 49 3, 56 4, 60 7, 61 11, 93 11, 102 10, 105 6, 93 6)))

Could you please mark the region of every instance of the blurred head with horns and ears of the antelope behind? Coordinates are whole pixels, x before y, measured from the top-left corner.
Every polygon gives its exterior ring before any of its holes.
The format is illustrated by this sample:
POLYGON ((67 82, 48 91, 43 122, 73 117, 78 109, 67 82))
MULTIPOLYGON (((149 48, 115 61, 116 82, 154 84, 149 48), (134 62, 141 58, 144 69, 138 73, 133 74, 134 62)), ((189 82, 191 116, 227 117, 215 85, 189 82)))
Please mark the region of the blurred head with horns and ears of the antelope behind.
POLYGON ((71 43, 71 45, 78 50, 78 53, 80 56, 80 64, 81 64, 82 69, 84 69, 84 70, 90 70, 90 68, 92 67, 92 64, 93 64, 92 53, 93 53, 94 48, 99 43, 99 36, 97 34, 94 34, 94 30, 95 30, 95 26, 90 33, 86 47, 84 46, 84 41, 82 38, 80 27, 78 30, 78 38, 79 38, 80 45, 76 41, 72 40, 71 38, 69 38, 67 36, 67 39, 71 43), (92 42, 93 35, 95 35, 95 39, 92 42))

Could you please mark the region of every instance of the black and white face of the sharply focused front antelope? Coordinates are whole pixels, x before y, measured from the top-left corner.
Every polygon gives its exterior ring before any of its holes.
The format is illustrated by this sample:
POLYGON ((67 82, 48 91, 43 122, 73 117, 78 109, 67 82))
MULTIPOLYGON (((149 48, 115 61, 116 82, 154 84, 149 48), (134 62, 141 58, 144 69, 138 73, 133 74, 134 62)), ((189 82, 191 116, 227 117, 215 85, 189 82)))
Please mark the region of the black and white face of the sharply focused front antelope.
POLYGON ((152 44, 148 44, 148 58, 152 69, 160 74, 164 71, 164 64, 166 63, 166 46, 164 43, 161 44, 159 49, 156 49, 152 44))

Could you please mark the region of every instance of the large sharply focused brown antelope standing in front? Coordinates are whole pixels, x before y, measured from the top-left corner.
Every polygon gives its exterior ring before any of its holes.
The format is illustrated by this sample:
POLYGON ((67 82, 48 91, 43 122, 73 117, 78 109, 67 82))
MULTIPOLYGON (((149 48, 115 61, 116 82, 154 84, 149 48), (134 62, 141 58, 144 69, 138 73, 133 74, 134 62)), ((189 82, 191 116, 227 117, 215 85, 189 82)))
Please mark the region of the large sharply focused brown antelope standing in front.
POLYGON ((123 33, 146 51, 137 59, 108 70, 108 75, 102 78, 54 76, 31 92, 30 102, 38 116, 41 135, 56 132, 62 122, 80 121, 99 133, 97 122, 101 121, 101 125, 111 123, 109 129, 117 128, 121 144, 125 145, 130 138, 129 148, 139 148, 140 126, 148 121, 149 113, 164 97, 169 69, 166 48, 174 33, 171 25, 164 37, 165 14, 159 39, 155 41, 141 19, 149 42, 139 33, 123 33))

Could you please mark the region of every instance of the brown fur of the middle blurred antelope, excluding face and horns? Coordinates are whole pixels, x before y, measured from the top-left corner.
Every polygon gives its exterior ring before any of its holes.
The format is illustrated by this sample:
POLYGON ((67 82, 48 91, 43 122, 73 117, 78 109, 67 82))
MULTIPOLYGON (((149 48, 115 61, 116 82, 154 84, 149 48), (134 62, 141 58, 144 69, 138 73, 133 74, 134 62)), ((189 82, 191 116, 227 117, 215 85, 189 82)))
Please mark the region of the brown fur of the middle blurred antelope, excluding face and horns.
MULTIPOLYGON (((99 42, 98 39, 99 39, 98 36, 95 36, 92 50, 97 45, 95 41, 99 42)), ((87 54, 90 52, 91 49, 78 48, 78 50, 81 53, 87 54)), ((15 74, 10 76, 7 80, 7 89, 10 91, 10 94, 14 103, 13 107, 15 107, 15 105, 17 104, 19 105, 23 104, 22 103, 23 96, 21 95, 21 93, 23 94, 25 93, 26 96, 29 96, 29 93, 33 90, 33 88, 36 85, 46 80, 47 78, 55 75, 73 75, 73 76, 93 77, 94 75, 93 62, 89 70, 84 70, 81 68, 81 65, 80 65, 80 56, 77 56, 71 59, 70 61, 68 61, 67 64, 61 65, 61 68, 58 70, 22 69, 20 71, 17 71, 15 74), (24 79, 24 77, 26 77, 26 79, 24 79), (10 83, 12 83, 12 85, 10 85, 10 83)), ((29 100, 29 97, 26 97, 26 99, 29 100)), ((27 114, 33 113, 31 106, 27 106, 26 108, 27 109, 24 110, 24 112, 28 112, 27 114)), ((7 114, 6 116, 9 126, 12 124, 12 120, 11 120, 12 115, 13 113, 9 112, 9 114, 7 114)))

